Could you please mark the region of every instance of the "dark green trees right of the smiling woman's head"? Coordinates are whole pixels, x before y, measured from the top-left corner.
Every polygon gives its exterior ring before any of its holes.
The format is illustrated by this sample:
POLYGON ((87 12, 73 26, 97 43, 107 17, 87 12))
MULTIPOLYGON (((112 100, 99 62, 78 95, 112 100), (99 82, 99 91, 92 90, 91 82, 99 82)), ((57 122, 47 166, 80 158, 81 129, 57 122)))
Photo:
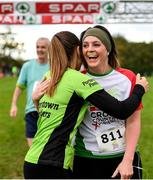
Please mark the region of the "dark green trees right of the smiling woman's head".
POLYGON ((153 42, 128 42, 124 37, 114 37, 118 49, 118 59, 121 66, 131 69, 135 73, 153 74, 153 42))

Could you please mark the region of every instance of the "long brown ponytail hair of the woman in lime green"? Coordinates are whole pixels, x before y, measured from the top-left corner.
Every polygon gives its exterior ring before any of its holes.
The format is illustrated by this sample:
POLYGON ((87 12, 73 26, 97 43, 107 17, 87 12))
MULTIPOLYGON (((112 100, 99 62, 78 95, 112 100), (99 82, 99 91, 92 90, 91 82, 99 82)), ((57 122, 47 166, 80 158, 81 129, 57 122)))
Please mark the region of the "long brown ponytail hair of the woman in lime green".
POLYGON ((51 73, 51 83, 47 91, 49 96, 54 94, 57 84, 68 67, 79 70, 81 64, 77 51, 79 44, 77 36, 69 31, 61 31, 53 36, 49 46, 51 73))

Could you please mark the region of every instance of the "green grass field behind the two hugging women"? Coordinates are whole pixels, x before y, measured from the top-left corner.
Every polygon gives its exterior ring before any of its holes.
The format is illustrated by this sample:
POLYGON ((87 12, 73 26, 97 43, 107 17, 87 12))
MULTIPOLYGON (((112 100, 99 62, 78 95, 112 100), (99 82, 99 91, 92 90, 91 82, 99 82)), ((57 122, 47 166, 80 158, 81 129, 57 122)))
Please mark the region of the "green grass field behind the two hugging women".
MULTIPOLYGON (((142 156, 144 179, 153 179, 153 78, 148 78, 150 90, 143 98, 142 132, 139 149, 142 156)), ((9 117, 11 98, 16 78, 0 79, 0 179, 23 178, 22 167, 28 150, 24 131, 25 93, 18 103, 15 119, 9 117)))

